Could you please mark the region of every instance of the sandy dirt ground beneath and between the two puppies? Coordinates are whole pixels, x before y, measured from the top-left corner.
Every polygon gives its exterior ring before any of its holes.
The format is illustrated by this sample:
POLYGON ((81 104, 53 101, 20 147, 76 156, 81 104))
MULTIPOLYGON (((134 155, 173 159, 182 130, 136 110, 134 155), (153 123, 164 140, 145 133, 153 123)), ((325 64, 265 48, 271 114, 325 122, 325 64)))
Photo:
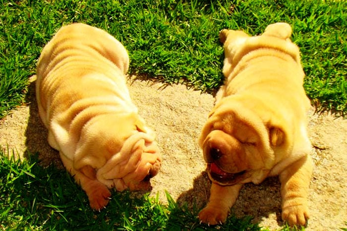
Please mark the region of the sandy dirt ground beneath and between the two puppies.
MULTIPOLYGON (((35 100, 35 83, 27 94, 27 106, 18 107, 0 120, 0 145, 15 148, 21 158, 26 151, 40 153, 43 165, 54 162, 61 166, 57 152, 49 147, 47 131, 40 121, 35 100)), ((213 97, 188 90, 183 85, 129 81, 129 90, 139 113, 157 133, 162 151, 162 168, 151 180, 152 194, 159 192, 166 203, 165 190, 179 204, 206 204, 210 182, 197 139, 213 97)), ((311 218, 306 230, 339 230, 347 222, 347 120, 328 114, 310 112, 309 135, 315 163, 310 185, 311 218)), ((247 184, 232 211, 237 216, 251 215, 254 222, 276 230, 281 221, 281 195, 277 178, 260 185, 247 184)))

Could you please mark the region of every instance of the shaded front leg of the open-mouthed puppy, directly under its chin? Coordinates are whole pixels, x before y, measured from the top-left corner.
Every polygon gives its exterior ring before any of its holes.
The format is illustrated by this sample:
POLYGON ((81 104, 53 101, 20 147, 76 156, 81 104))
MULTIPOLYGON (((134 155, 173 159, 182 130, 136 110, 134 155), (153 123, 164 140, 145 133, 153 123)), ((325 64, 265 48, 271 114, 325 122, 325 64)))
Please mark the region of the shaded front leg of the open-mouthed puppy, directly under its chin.
POLYGON ((200 221, 209 225, 225 222, 241 187, 242 185, 222 186, 212 183, 210 201, 199 213, 200 221))

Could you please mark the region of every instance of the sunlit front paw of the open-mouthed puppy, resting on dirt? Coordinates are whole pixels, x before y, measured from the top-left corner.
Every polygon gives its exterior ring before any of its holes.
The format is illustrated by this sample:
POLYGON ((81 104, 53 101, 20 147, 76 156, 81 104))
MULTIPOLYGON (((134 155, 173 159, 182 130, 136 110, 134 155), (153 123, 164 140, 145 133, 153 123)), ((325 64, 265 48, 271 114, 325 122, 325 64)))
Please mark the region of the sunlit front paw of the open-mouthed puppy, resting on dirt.
POLYGON ((308 207, 305 205, 293 205, 282 209, 282 219, 290 226, 305 226, 308 218, 308 207))

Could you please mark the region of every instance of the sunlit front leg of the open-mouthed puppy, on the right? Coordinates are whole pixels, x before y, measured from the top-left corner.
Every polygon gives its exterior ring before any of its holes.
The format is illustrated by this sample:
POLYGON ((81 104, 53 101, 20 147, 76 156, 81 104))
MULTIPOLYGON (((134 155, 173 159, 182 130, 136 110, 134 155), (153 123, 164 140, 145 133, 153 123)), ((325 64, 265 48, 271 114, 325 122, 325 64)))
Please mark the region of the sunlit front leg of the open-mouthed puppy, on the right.
POLYGON ((308 187, 312 175, 309 155, 291 164, 280 174, 282 219, 290 226, 304 226, 308 215, 308 187))

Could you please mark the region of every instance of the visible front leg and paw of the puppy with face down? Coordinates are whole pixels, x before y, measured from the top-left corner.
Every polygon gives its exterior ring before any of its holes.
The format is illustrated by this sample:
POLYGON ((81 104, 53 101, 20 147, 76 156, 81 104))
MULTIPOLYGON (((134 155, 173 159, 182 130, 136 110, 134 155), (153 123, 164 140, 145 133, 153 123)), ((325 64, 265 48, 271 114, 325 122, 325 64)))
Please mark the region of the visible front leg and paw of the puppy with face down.
POLYGON ((86 166, 81 171, 77 171, 73 168, 71 160, 67 159, 63 153, 59 152, 59 154, 65 168, 87 193, 90 207, 95 210, 104 208, 109 203, 111 192, 106 185, 97 180, 95 170, 86 166))

